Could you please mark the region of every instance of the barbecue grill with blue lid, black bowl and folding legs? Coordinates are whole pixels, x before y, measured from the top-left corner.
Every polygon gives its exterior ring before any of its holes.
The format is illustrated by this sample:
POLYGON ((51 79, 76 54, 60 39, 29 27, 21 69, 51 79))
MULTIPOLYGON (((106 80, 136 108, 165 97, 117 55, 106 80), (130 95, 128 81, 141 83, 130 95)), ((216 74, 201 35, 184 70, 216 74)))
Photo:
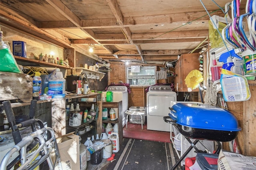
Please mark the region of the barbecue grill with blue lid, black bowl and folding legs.
POLYGON ((216 153, 218 154, 221 149, 220 142, 235 139, 241 130, 236 117, 226 109, 198 103, 176 103, 169 109, 169 116, 165 116, 164 121, 174 125, 191 145, 172 167, 173 170, 192 148, 200 152, 195 146, 198 140, 216 141, 218 143, 216 153), (190 138, 196 140, 192 142, 190 138))

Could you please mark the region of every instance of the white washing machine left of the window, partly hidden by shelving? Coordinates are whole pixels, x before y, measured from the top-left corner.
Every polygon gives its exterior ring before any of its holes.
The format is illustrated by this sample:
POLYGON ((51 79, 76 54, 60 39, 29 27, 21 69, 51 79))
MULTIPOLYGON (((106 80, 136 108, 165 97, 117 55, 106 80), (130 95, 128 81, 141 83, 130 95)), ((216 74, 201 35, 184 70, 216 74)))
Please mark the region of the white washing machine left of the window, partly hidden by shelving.
MULTIPOLYGON (((112 91, 113 92, 113 102, 118 102, 122 101, 122 122, 123 122, 123 127, 126 124, 126 114, 124 113, 125 111, 129 110, 128 109, 128 90, 126 86, 109 86, 107 91, 112 91)), ((106 96, 107 91, 103 91, 102 95, 106 96)), ((113 108, 116 111, 116 115, 118 113, 117 108, 113 108)))

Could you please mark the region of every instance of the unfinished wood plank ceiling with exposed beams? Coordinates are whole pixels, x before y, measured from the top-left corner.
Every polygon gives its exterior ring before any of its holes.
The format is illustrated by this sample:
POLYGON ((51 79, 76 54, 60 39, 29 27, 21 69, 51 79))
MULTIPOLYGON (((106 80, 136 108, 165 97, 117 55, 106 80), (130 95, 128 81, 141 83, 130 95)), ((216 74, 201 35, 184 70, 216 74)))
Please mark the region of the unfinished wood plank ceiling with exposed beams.
MULTIPOLYGON (((231 0, 202 0, 210 15, 231 0), (215 2, 215 3, 214 3, 215 2), (218 4, 218 6, 216 5, 218 4)), ((0 24, 105 61, 161 65, 208 45, 200 0, 1 0, 0 24)), ((242 2, 241 7, 245 6, 242 2)))

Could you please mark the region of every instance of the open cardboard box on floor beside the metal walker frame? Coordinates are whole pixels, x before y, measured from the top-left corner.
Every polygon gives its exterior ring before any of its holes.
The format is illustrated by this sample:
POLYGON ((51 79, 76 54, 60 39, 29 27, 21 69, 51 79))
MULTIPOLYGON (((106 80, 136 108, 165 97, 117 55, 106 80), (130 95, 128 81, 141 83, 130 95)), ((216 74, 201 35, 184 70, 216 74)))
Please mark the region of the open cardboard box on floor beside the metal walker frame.
POLYGON ((79 136, 71 132, 56 138, 56 140, 62 169, 80 170, 79 136))

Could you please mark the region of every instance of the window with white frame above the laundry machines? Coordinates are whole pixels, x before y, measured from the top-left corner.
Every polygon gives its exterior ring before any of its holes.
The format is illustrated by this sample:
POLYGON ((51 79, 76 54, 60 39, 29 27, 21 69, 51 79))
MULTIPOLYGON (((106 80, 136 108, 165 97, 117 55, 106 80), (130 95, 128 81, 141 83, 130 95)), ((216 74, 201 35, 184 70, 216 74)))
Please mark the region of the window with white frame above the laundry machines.
MULTIPOLYGON (((133 67, 133 66, 132 66, 133 67)), ((126 67, 126 82, 133 86, 149 86, 156 84, 156 67, 148 66, 148 67, 140 67, 135 66, 134 68, 126 67)))

